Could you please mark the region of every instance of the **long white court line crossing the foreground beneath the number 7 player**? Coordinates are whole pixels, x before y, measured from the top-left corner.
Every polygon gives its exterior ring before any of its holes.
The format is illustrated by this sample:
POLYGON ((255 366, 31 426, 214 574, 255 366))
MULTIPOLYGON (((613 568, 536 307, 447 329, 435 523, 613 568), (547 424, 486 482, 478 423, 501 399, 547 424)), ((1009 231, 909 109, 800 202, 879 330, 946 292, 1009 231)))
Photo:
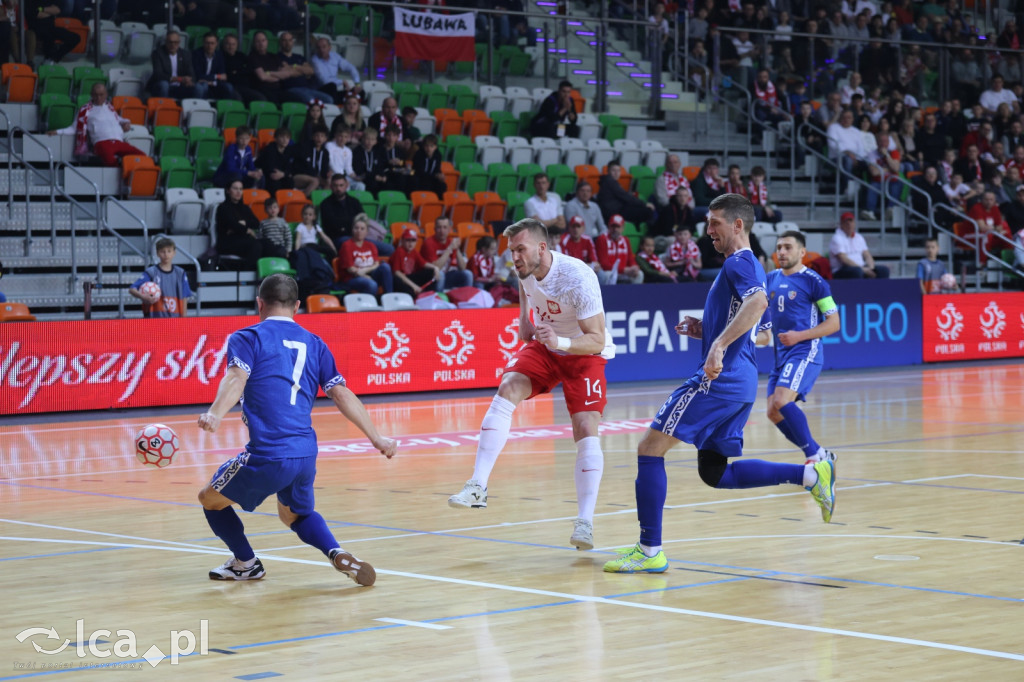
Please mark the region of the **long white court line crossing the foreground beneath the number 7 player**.
MULTIPOLYGON (((0 540, 18 540, 24 541, 24 538, 6 538, 0 536, 0 540)), ((208 548, 189 548, 189 547, 167 547, 162 545, 134 545, 134 544, 121 544, 121 543, 100 543, 93 541, 80 541, 80 540, 55 540, 48 538, 33 538, 30 542, 53 542, 59 544, 81 544, 81 545, 98 545, 98 546, 117 546, 122 545, 124 547, 130 547, 133 549, 155 549, 158 551, 171 551, 171 552, 191 552, 197 554, 221 554, 219 550, 211 550, 208 548)), ((162 542, 159 540, 153 542, 162 542)), ((312 561, 310 559, 299 559, 292 557, 283 557, 264 554, 261 559, 273 559, 278 561, 284 561, 288 563, 300 563, 306 565, 324 565, 323 561, 312 561)), ((459 585, 463 587, 475 587, 487 590, 499 590, 504 592, 515 592, 519 594, 529 594, 540 597, 551 597, 555 599, 571 600, 578 602, 591 602, 595 604, 604 604, 611 606, 620 606, 627 608, 638 608, 642 610, 658 611, 663 613, 674 613, 677 615, 689 615, 697 619, 710 619, 714 621, 726 621, 729 623, 740 623, 744 625, 756 625, 765 626, 771 628, 782 628, 786 630, 797 630, 801 632, 810 632, 815 634, 823 635, 835 635, 838 637, 850 637, 854 639, 866 639, 877 642, 886 642, 890 644, 905 644, 908 646, 919 646, 925 648, 941 649, 945 651, 956 651, 959 653, 972 653, 976 655, 988 656, 993 658, 1006 658, 1010 660, 1021 660, 1024 662, 1024 654, 1011 653, 1009 651, 997 651, 994 649, 982 649, 973 646, 962 646, 959 644, 949 644, 946 642, 933 642, 924 639, 913 639, 908 637, 897 637, 893 635, 881 635, 878 633, 860 632, 856 630, 843 630, 839 628, 823 628, 820 626, 804 625, 800 623, 787 623, 784 621, 772 621, 769 619, 755 619, 745 615, 733 615, 731 613, 721 613, 716 611, 699 611, 691 608, 680 608, 676 606, 665 606, 662 604, 645 604, 642 602, 635 601, 625 601, 623 599, 610 599, 607 597, 595 597, 591 595, 572 594, 568 592, 556 592, 554 590, 539 590, 536 588, 520 587, 515 585, 503 585, 500 583, 484 583, 482 581, 470 581, 461 578, 447 578, 443 576, 429 576, 426 573, 414 573, 403 570, 387 570, 378 569, 379 574, 393 576, 396 578, 408 578, 411 580, 422 580, 430 581, 434 583, 444 583, 447 585, 459 585)))

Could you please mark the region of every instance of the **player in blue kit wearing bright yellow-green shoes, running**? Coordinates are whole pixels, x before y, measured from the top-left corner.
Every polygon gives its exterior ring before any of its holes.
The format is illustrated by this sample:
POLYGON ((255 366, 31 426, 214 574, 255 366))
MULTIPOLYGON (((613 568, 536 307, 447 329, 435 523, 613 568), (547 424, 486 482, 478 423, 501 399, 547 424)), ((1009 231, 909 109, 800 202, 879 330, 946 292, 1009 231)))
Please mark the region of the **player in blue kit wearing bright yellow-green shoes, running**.
POLYGON ((742 455, 743 426, 758 389, 755 337, 768 307, 765 271, 750 248, 754 207, 740 195, 711 203, 708 236, 726 256, 715 278, 703 317, 683 318, 676 331, 700 339, 701 367, 676 389, 654 417, 637 446, 636 499, 640 542, 604 570, 618 573, 664 572, 662 515, 668 494, 665 455, 679 441, 697 449, 697 473, 712 487, 748 488, 792 483, 805 486, 831 519, 836 501, 833 463, 783 464, 736 460, 742 455))

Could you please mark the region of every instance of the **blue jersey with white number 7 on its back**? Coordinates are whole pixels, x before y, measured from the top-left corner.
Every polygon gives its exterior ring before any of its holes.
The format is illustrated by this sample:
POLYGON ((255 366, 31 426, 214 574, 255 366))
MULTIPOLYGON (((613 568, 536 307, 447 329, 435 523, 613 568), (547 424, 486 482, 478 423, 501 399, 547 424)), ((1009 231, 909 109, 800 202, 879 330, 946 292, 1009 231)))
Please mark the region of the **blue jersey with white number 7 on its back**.
POLYGON ((268 459, 316 455, 316 392, 345 383, 324 340, 294 319, 267 317, 231 334, 227 358, 227 367, 249 376, 242 396, 246 450, 268 459))

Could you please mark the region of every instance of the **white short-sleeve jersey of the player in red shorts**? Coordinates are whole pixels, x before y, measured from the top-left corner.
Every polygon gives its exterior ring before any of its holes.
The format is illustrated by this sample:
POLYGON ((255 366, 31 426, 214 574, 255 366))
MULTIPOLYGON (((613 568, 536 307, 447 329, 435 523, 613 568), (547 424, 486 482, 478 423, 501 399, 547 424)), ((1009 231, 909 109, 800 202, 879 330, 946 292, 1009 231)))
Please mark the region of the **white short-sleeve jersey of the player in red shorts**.
MULTIPOLYGON (((547 323, 558 336, 574 339, 583 336, 580 321, 604 312, 601 287, 591 267, 580 260, 558 252, 551 253, 551 269, 538 281, 532 274, 522 280, 526 304, 534 313, 534 323, 547 323)), ((550 349, 549 349, 550 350, 550 349)), ((552 352, 566 355, 561 350, 552 352)), ((601 357, 611 359, 615 345, 611 335, 604 335, 601 357)))

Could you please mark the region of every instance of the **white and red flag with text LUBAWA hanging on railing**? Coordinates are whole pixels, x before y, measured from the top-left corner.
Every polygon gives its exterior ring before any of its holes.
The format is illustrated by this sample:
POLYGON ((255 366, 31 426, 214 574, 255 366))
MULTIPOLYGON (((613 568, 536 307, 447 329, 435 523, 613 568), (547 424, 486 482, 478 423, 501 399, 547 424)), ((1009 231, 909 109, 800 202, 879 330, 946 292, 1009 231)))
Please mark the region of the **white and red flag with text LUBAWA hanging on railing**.
POLYGON ((476 13, 435 14, 394 8, 394 51, 404 59, 474 61, 476 13))

